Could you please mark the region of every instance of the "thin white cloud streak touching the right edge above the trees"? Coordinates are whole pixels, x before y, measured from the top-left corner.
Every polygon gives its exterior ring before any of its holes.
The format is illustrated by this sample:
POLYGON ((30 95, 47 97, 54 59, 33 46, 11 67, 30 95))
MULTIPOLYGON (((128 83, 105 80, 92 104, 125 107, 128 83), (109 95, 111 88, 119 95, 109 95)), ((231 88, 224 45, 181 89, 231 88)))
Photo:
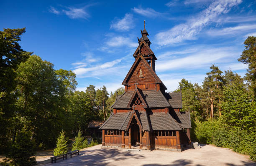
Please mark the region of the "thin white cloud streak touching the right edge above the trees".
POLYGON ((256 29, 256 24, 252 25, 238 25, 235 27, 228 27, 228 28, 223 28, 220 30, 208 30, 207 34, 211 36, 219 36, 219 35, 237 35, 239 33, 244 33, 248 30, 255 30, 256 29))

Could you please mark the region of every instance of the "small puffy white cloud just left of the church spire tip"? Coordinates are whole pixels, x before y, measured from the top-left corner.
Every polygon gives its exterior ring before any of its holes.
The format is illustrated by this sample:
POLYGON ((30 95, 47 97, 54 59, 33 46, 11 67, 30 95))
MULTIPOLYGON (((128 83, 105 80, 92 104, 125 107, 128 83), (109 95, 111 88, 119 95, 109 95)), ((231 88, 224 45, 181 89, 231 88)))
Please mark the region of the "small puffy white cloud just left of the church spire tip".
POLYGON ((133 15, 128 13, 125 14, 124 18, 113 21, 110 25, 110 28, 119 31, 128 31, 133 27, 133 15))

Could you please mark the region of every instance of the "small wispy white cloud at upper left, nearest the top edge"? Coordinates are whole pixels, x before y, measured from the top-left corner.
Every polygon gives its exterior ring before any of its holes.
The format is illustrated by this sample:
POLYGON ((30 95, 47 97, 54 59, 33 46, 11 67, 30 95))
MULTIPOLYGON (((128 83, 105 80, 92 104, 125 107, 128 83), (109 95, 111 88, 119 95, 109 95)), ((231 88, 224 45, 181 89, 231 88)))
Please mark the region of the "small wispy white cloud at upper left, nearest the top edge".
POLYGON ((84 8, 69 7, 68 10, 62 10, 69 18, 84 18, 87 19, 90 15, 84 8))

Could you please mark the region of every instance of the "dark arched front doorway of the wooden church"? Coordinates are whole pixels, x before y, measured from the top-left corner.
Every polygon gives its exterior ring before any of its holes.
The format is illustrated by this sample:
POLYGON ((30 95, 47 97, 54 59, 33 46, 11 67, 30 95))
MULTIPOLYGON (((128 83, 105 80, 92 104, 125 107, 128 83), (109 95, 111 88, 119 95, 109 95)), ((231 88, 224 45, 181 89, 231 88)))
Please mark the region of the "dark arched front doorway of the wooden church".
POLYGON ((140 143, 140 127, 137 124, 136 119, 133 117, 131 122, 131 144, 133 146, 139 146, 140 143))

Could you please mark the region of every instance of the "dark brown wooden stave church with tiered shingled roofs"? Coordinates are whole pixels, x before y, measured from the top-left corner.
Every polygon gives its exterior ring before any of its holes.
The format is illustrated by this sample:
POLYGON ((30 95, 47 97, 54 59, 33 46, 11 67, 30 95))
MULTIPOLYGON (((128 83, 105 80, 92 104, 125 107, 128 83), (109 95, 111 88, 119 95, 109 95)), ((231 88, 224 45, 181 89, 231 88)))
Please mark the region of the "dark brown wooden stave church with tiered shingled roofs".
POLYGON ((148 32, 141 31, 135 62, 123 80, 125 93, 111 106, 113 113, 102 124, 102 146, 180 151, 190 144, 190 115, 180 112, 182 94, 166 92, 156 75, 148 32))

